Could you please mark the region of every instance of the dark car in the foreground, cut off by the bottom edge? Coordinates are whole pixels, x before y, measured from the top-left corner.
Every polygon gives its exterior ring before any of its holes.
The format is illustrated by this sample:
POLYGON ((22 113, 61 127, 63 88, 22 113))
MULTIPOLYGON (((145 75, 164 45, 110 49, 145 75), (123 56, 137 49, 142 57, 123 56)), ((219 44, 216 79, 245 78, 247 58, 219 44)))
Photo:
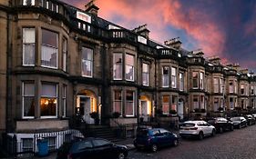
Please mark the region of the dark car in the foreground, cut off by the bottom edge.
POLYGON ((56 159, 124 159, 128 148, 101 138, 86 138, 82 141, 62 144, 56 159))

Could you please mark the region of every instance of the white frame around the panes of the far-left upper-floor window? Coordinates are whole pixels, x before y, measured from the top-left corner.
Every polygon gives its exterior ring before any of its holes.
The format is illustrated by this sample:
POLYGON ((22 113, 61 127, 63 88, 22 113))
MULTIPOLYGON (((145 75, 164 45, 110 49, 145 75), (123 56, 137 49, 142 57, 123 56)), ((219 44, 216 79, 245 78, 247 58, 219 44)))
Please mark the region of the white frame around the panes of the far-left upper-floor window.
POLYGON ((29 27, 26 27, 26 28, 23 28, 23 60, 22 60, 22 65, 23 66, 35 66, 35 63, 36 63, 36 28, 29 28, 29 27), (25 43, 25 38, 26 38, 26 30, 27 29, 33 29, 34 30, 34 43, 25 43), (34 64, 25 64, 25 59, 26 59, 26 56, 25 56, 25 45, 33 45, 34 44, 34 64))

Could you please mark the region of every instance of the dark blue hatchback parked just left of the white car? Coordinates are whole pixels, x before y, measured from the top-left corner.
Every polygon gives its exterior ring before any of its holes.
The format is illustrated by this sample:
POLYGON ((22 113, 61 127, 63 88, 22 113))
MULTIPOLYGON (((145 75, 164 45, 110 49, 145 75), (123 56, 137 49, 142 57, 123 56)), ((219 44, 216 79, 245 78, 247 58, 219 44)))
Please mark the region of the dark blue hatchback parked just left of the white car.
POLYGON ((159 150, 159 147, 179 144, 177 134, 173 134, 163 128, 138 128, 134 145, 137 149, 142 147, 150 149, 152 152, 159 150))

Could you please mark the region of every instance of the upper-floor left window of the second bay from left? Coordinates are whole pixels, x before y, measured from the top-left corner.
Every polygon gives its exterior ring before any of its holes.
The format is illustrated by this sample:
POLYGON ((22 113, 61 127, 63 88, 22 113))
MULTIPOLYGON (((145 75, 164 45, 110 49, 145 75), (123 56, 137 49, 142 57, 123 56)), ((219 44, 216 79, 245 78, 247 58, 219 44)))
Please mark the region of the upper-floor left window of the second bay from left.
POLYGON ((113 54, 113 78, 121 80, 123 76, 123 55, 113 54))

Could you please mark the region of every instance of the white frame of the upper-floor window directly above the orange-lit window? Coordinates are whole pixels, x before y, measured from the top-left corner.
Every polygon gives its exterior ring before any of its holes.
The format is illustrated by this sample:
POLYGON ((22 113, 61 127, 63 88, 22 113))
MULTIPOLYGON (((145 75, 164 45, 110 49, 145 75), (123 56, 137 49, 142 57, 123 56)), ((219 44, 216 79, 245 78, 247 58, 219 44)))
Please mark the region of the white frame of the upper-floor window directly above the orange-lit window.
MULTIPOLYGON (((52 32, 52 33, 55 33, 56 34, 56 47, 55 46, 53 46, 53 45, 46 45, 46 44, 43 44, 43 40, 42 40, 42 43, 41 43, 41 59, 40 59, 40 61, 41 61, 41 66, 42 67, 46 67, 46 68, 53 68, 53 69, 57 69, 57 67, 58 67, 58 45, 59 45, 59 38, 58 38, 58 33, 56 33, 56 32, 54 32, 54 31, 51 31, 51 30, 47 30, 47 29, 42 29, 42 34, 43 34, 43 30, 46 30, 46 31, 48 31, 48 32, 52 32), (56 49, 56 66, 49 66, 49 65, 43 65, 42 64, 42 55, 43 55, 43 45, 44 46, 47 46, 47 47, 51 47, 51 48, 54 48, 54 49, 56 49)), ((43 37, 42 37, 43 38, 43 37)))

